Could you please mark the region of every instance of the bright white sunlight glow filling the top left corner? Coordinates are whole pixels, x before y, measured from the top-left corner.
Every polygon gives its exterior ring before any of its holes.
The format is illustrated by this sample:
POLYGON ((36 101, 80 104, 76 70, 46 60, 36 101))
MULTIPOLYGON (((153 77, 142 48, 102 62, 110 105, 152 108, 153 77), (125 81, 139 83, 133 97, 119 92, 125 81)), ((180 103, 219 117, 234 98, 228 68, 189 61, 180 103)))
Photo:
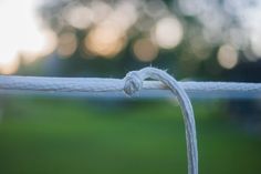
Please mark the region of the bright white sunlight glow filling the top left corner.
POLYGON ((35 8, 34 0, 0 1, 0 73, 15 72, 20 55, 27 63, 54 50, 55 34, 40 28, 35 8))

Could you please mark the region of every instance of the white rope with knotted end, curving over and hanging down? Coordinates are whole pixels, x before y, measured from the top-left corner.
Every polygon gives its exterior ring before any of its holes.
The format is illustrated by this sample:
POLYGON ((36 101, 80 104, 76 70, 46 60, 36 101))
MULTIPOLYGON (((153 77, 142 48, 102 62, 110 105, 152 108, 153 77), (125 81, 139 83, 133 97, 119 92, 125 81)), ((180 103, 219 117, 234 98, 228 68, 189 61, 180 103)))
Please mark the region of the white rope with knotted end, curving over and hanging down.
POLYGON ((184 89, 178 82, 165 71, 155 68, 145 68, 139 71, 132 71, 125 78, 124 91, 128 95, 143 88, 143 81, 153 79, 161 81, 171 90, 174 95, 177 96, 180 104, 185 127, 186 127, 186 142, 187 142, 187 157, 188 157, 188 173, 198 174, 198 147, 196 137, 196 125, 194 119, 194 110, 190 100, 184 89))

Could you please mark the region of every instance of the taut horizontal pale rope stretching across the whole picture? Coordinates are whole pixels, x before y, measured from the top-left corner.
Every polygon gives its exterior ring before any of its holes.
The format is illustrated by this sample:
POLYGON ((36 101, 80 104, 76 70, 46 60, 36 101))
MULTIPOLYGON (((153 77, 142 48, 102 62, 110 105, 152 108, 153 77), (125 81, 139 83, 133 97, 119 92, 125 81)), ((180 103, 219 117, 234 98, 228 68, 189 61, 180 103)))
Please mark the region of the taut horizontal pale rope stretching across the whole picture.
MULTIPOLYGON (((238 82, 178 82, 185 91, 197 98, 261 98, 260 83, 238 82)), ((88 96, 125 98, 125 81, 102 78, 43 78, 0 75, 0 93, 17 92, 67 93, 75 92, 88 96)), ((169 90, 158 81, 145 81, 136 98, 168 98, 169 90)))

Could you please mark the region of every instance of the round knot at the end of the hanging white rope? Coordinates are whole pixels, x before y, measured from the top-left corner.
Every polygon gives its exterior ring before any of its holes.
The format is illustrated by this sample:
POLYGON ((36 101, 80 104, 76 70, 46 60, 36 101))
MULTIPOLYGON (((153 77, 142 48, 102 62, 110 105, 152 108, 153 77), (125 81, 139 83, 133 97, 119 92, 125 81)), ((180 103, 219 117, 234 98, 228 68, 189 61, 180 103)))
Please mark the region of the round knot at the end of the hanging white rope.
POLYGON ((138 71, 128 72, 124 79, 124 92, 129 96, 143 88, 143 79, 139 76, 138 71))

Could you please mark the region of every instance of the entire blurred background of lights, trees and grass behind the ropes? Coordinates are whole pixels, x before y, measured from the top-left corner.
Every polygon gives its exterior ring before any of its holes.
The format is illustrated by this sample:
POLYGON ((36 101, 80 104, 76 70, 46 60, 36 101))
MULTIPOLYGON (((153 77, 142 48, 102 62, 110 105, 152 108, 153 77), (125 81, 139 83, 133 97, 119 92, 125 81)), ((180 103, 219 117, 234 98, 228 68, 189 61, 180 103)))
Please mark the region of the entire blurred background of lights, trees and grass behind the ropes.
MULTIPOLYGON (((260 0, 3 0, 0 74, 261 82, 260 0)), ((261 173, 261 99, 194 98, 200 174, 261 173)), ((176 101, 0 92, 0 173, 185 174, 176 101)))

